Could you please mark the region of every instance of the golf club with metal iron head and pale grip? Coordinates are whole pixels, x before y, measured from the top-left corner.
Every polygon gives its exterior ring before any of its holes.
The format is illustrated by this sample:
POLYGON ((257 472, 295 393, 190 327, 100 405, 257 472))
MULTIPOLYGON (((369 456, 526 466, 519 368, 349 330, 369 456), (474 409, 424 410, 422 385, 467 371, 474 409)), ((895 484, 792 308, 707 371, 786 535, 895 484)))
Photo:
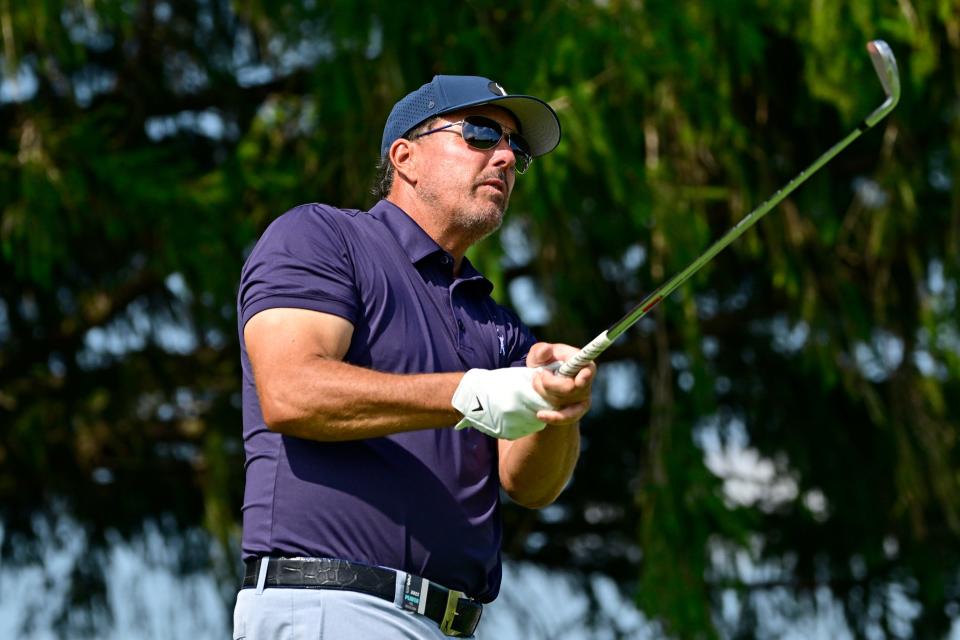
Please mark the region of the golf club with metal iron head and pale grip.
POLYGON ((859 138, 864 131, 870 129, 873 125, 882 120, 893 110, 895 106, 897 106, 897 102, 900 100, 900 75, 897 70, 897 60, 893 56, 893 51, 890 50, 889 45, 887 45, 887 43, 883 40, 872 40, 868 42, 867 51, 870 54, 870 60, 873 62, 873 67, 876 69, 877 75, 880 76, 880 83, 883 85, 883 91, 887 96, 887 99, 884 100, 883 104, 877 107, 873 113, 868 115, 860 124, 860 126, 847 135, 846 138, 830 147, 826 152, 824 152, 823 155, 817 158, 813 164, 800 172, 800 174, 787 183, 785 187, 773 194, 769 200, 761 204, 742 220, 740 220, 735 227, 730 229, 730 231, 728 231, 722 238, 717 240, 703 253, 703 255, 694 260, 686 269, 675 275, 673 278, 646 296, 640 301, 640 304, 631 309, 627 315, 623 316, 623 318, 615 322, 607 330, 591 340, 577 354, 564 362, 558 369, 560 375, 568 377, 577 375, 577 372, 579 372, 583 367, 587 366, 587 364, 593 362, 607 349, 607 347, 613 344, 613 341, 616 340, 620 334, 636 324, 640 318, 650 313, 654 307, 660 304, 661 300, 673 293, 677 287, 690 279, 693 274, 703 268, 703 265, 710 262, 710 260, 720 253, 720 251, 722 251, 727 245, 739 238, 744 231, 756 224, 760 218, 766 215, 767 212, 777 204, 782 202, 783 199, 786 198, 794 189, 800 186, 811 175, 816 173, 820 167, 832 160, 834 156, 845 149, 851 142, 859 138))

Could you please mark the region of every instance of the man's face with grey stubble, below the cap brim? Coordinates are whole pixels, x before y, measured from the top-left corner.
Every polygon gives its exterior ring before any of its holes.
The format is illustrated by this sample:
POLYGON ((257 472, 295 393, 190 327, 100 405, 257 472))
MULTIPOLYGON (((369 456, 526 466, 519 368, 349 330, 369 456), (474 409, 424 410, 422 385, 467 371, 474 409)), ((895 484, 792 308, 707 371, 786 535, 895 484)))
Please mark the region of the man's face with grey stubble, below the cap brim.
MULTIPOLYGON (((505 109, 490 105, 445 114, 431 129, 465 116, 496 120, 504 132, 517 131, 517 121, 505 109)), ((493 233, 503 222, 515 179, 516 158, 506 139, 492 149, 474 149, 460 135, 461 125, 417 138, 422 152, 416 193, 445 216, 448 228, 474 243, 493 233)))

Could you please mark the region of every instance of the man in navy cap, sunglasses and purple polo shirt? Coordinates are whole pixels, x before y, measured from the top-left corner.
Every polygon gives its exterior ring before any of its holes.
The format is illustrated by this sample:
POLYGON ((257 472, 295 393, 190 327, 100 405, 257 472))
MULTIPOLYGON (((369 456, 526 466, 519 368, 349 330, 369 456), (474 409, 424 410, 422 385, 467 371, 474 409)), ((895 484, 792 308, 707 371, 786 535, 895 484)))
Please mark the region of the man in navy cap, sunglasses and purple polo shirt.
POLYGON ((536 343, 464 257, 554 111, 472 76, 393 108, 386 198, 274 221, 241 278, 246 576, 234 637, 471 637, 500 587, 502 487, 551 503, 595 367, 536 343))

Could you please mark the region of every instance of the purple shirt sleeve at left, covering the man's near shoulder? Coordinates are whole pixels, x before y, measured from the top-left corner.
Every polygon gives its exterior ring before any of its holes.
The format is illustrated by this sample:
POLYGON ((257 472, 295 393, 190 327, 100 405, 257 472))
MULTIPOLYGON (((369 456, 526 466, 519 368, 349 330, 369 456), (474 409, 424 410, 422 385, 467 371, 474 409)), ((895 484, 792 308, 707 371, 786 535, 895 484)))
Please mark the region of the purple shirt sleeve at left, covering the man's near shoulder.
POLYGON ((355 271, 338 216, 347 214, 303 205, 267 227, 240 276, 241 331, 260 311, 278 307, 331 313, 357 323, 355 271))

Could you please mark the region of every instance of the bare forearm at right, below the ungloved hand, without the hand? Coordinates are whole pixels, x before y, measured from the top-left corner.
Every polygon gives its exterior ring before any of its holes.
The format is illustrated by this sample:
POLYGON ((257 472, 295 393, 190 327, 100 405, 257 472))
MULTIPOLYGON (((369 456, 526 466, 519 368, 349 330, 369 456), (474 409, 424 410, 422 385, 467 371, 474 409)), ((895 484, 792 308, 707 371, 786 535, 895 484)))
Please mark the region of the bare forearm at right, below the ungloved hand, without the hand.
POLYGON ((515 502, 538 509, 556 500, 570 480, 580 456, 580 425, 548 425, 499 446, 500 484, 515 502))

